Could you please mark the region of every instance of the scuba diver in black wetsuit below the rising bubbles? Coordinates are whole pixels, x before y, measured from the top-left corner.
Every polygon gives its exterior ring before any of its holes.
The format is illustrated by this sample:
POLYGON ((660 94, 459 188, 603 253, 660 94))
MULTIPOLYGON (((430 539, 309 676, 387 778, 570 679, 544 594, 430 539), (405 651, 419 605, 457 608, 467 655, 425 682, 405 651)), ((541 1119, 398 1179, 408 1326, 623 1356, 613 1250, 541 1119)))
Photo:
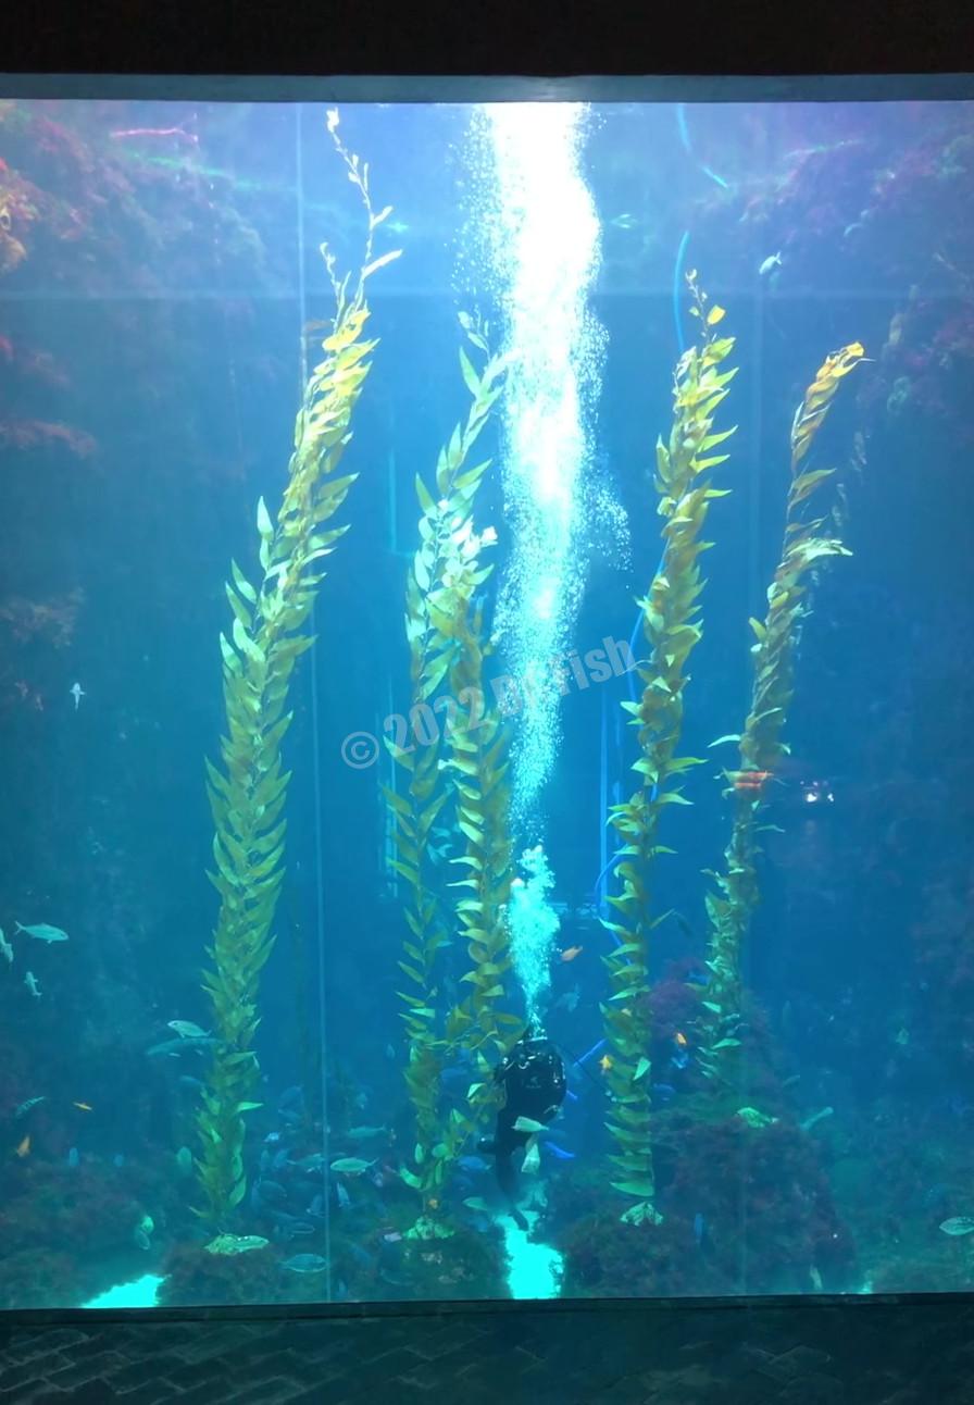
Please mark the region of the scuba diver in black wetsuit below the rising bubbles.
POLYGON ((521 1131, 514 1124, 521 1117, 544 1124, 555 1118, 568 1087, 565 1065, 551 1040, 531 1038, 530 1030, 526 1030, 495 1069, 493 1080, 503 1086, 505 1100, 498 1110, 493 1137, 481 1138, 478 1149, 493 1155, 498 1184, 510 1201, 514 1224, 527 1229, 527 1221, 514 1204, 517 1168, 512 1158, 537 1132, 521 1131))

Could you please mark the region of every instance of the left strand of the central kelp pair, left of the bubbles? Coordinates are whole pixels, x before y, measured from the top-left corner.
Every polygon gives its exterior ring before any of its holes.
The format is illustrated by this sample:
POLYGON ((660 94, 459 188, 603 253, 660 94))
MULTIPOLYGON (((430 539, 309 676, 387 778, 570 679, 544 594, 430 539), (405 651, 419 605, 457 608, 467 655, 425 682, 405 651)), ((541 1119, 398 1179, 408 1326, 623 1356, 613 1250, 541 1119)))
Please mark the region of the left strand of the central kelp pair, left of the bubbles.
MULTIPOLYGON (((492 357, 486 327, 461 316, 472 348, 460 353, 460 365, 472 396, 467 422, 458 424, 436 468, 436 496, 416 476, 422 510, 420 547, 406 582, 406 639, 409 642, 413 705, 427 704, 437 690, 448 697, 447 740, 439 733, 429 746, 405 750, 387 742, 389 752, 409 776, 405 792, 387 788, 385 797, 396 822, 399 856, 396 871, 409 884, 406 922, 410 936, 399 967, 406 978, 401 992, 409 1041, 406 1087, 416 1113, 413 1169, 403 1180, 423 1196, 423 1221, 431 1224, 429 1201, 446 1180, 451 1162, 468 1135, 467 1118, 440 1109, 440 1073, 448 1040, 437 1024, 437 953, 448 941, 453 913, 441 910, 427 858, 430 830, 444 806, 457 804, 454 762, 455 717, 469 698, 455 690, 454 670, 465 648, 472 601, 492 572, 481 563, 481 552, 496 542, 492 527, 474 530, 474 502, 489 459, 468 466, 471 452, 492 406, 503 391, 505 358, 492 357), (483 362, 482 370, 476 364, 483 362)), ((479 628, 479 624, 478 624, 479 628)))

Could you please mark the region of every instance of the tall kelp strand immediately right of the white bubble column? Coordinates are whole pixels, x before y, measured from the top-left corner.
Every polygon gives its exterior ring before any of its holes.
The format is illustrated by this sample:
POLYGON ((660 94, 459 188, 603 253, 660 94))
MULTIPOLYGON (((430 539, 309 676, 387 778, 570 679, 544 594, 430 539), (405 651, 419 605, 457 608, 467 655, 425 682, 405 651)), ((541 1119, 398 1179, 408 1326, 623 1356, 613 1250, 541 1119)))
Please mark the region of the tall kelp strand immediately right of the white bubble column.
POLYGON ((656 444, 663 556, 648 594, 638 601, 649 646, 648 660, 638 665, 642 695, 637 702, 623 704, 632 714, 630 725, 638 729, 641 754, 632 770, 639 783, 632 797, 610 812, 623 842, 616 865, 623 891, 609 899, 618 912, 617 920, 604 923, 618 941, 603 957, 611 991, 602 1006, 611 1059, 606 1072, 613 1104, 607 1125, 616 1144, 610 1159, 618 1168, 613 1184, 637 1201, 623 1215, 632 1224, 656 1218, 648 1007, 649 933, 655 922, 649 915, 649 870, 658 854, 672 853, 656 839, 663 809, 690 804, 682 792, 682 777, 700 764, 696 757, 677 756, 676 747, 683 728, 687 662, 701 638, 699 558, 710 545, 703 541, 703 530, 710 503, 727 492, 710 486, 710 469, 728 458, 713 450, 734 433, 734 429, 714 433, 714 414, 735 375, 735 370, 721 370, 734 337, 715 334, 724 309, 707 308, 696 274, 689 274, 687 282, 701 341, 677 364, 669 444, 662 440, 656 444))

